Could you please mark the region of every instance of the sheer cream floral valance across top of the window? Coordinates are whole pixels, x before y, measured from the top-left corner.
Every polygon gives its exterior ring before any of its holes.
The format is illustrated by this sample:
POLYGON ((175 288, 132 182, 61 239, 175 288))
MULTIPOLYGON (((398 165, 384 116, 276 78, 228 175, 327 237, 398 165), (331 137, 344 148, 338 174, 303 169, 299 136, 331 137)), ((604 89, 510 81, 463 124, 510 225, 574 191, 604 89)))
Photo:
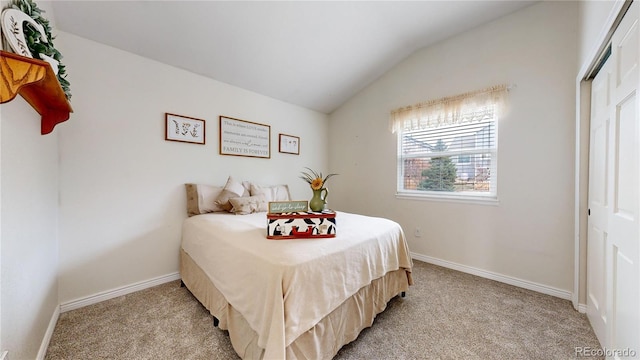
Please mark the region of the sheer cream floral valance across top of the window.
POLYGON ((496 85, 465 94, 429 100, 391 111, 389 128, 418 130, 445 125, 482 121, 502 112, 506 106, 507 85, 496 85))

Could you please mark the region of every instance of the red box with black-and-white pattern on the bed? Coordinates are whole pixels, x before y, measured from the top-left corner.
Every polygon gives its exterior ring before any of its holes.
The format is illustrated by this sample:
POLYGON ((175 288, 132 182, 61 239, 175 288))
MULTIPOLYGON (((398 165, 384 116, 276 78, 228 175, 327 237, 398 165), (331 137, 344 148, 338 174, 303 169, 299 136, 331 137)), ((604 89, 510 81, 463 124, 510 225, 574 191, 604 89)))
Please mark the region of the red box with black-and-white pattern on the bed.
POLYGON ((267 214, 267 239, 316 239, 336 236, 336 213, 290 212, 267 214))

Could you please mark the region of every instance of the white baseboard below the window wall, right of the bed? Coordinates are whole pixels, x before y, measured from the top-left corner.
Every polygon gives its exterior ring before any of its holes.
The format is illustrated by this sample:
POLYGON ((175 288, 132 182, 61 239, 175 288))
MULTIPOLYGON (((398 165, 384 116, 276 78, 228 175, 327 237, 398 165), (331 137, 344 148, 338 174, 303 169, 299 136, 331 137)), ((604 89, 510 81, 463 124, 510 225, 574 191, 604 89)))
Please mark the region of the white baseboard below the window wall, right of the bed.
POLYGON ((467 274, 480 276, 485 279, 499 281, 505 284, 521 287, 523 289, 533 290, 542 294, 555 296, 561 299, 571 300, 572 293, 566 290, 561 290, 551 286, 538 284, 532 281, 522 280, 522 279, 514 278, 511 276, 478 269, 473 266, 462 265, 462 264, 454 263, 451 261, 442 260, 442 259, 434 258, 431 256, 427 256, 427 255, 413 253, 413 252, 411 253, 411 257, 413 259, 424 261, 429 264, 434 264, 434 265, 446 267, 452 270, 464 272, 467 274))

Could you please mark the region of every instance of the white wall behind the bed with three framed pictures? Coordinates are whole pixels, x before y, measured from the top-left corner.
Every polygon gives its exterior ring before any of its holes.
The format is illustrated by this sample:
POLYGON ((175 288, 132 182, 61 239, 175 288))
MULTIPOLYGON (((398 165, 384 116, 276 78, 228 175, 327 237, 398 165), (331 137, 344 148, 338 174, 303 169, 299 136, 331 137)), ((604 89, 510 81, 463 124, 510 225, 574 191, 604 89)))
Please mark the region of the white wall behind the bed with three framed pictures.
MULTIPOLYGON (((184 183, 286 183, 326 171, 324 114, 61 32, 74 113, 60 135, 60 302, 178 271, 184 183), (164 140, 164 113, 206 120, 206 145, 164 140), (218 154, 218 116, 271 126, 271 159, 218 154), (278 153, 278 134, 301 138, 278 153)), ((189 54, 185 54, 189 56, 189 54)), ((224 56, 221 54, 220 56, 224 56)))

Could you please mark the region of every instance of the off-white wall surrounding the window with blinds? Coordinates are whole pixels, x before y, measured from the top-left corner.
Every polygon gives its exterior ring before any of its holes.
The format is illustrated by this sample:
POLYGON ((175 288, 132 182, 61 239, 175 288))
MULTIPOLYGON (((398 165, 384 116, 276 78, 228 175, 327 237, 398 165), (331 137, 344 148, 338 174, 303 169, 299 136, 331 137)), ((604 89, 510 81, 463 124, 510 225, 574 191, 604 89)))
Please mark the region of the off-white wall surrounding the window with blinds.
POLYGON ((577 4, 542 2, 416 52, 330 116, 331 206, 398 221, 419 255, 570 294, 577 42, 577 4), (499 205, 396 199, 389 112, 502 83, 499 205))

